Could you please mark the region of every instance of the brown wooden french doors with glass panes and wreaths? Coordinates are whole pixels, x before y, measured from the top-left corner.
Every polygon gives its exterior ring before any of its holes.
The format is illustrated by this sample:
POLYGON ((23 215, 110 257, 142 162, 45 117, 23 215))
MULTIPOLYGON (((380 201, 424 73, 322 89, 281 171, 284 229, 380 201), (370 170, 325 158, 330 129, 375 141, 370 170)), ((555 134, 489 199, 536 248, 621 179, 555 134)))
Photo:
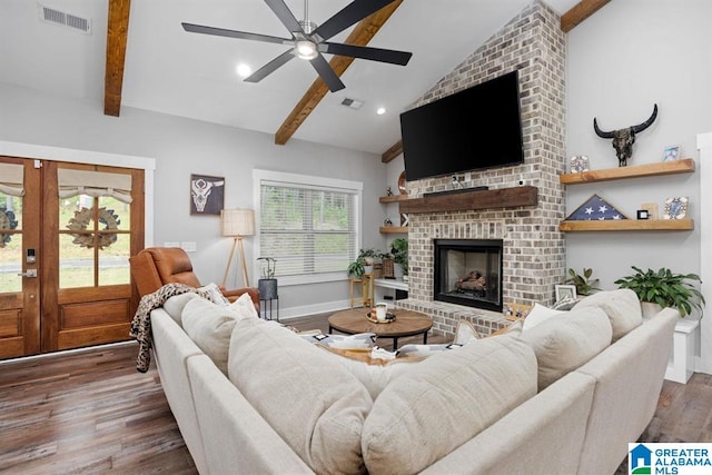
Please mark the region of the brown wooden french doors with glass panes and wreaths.
POLYGON ((142 170, 0 157, 0 358, 129 339, 142 247, 142 170))

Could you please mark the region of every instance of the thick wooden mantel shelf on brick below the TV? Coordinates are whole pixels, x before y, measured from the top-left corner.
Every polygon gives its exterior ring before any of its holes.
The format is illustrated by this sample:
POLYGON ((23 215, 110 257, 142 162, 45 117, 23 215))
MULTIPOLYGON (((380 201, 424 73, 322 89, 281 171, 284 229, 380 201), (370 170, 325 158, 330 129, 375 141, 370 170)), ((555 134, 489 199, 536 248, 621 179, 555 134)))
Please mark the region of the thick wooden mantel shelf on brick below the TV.
POLYGON ((463 190, 456 194, 431 195, 400 201, 400 212, 468 211, 473 209, 517 208, 536 206, 537 188, 522 186, 492 190, 463 190))

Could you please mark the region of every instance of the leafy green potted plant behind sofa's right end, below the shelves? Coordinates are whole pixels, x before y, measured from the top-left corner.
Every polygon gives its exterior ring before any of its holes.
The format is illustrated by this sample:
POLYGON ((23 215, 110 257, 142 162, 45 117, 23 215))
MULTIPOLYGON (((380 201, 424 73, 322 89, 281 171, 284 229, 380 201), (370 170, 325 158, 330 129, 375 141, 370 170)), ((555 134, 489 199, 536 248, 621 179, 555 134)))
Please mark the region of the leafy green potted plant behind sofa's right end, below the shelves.
POLYGON ((664 267, 657 271, 632 268, 635 274, 621 277, 615 284, 619 288, 633 290, 641 301, 676 308, 681 317, 690 315, 693 309, 702 310, 705 305, 704 296, 692 284, 701 283, 696 274, 675 274, 664 267))

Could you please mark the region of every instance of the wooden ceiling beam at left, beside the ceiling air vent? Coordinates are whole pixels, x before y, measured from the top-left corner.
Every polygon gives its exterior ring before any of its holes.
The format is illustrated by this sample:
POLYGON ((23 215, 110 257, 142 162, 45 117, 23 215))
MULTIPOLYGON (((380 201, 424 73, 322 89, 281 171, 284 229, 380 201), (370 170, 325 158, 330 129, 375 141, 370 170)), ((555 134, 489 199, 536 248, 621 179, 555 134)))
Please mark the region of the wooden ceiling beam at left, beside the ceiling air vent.
POLYGON ((103 78, 103 113, 119 117, 126 42, 129 33, 131 0, 109 0, 107 65, 103 78))

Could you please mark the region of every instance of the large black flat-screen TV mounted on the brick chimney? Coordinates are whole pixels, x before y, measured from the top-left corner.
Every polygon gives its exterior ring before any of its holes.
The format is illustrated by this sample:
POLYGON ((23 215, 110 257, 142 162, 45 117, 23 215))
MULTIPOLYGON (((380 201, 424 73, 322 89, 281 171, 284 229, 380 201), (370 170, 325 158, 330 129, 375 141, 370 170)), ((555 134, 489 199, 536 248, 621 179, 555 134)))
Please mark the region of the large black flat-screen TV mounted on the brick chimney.
POLYGON ((400 115, 408 181, 522 164, 517 71, 400 115))

